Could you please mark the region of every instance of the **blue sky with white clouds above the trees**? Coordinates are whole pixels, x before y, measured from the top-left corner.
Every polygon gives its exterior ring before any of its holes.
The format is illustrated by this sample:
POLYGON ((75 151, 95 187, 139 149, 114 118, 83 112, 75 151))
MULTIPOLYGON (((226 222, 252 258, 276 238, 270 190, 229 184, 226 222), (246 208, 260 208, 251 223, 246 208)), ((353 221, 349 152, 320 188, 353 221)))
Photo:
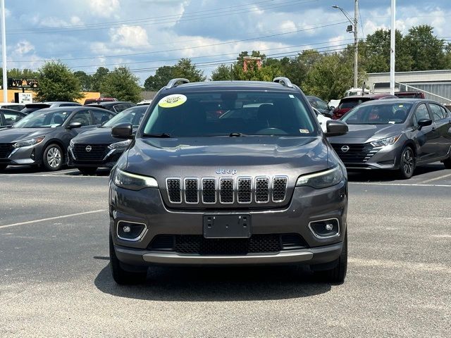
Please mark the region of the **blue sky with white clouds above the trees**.
MULTIPOLYGON (((390 27, 390 0, 360 0, 359 37, 390 27)), ((352 43, 354 0, 5 0, 8 68, 61 60, 73 70, 127 65, 141 83, 192 58, 209 75, 240 51, 293 56, 352 43)), ((397 28, 429 24, 451 41, 451 1, 397 0, 397 28), (448 21, 448 23, 447 23, 448 21)))

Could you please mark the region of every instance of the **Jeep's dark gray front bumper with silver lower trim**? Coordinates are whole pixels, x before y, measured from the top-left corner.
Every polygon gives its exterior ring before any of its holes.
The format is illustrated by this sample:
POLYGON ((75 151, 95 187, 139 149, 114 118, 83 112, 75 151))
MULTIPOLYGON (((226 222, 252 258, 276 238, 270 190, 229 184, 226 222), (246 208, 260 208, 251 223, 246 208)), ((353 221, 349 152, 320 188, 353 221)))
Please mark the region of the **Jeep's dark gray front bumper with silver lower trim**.
POLYGON ((285 208, 187 210, 169 209, 161 199, 159 189, 148 188, 140 192, 110 184, 110 231, 116 256, 129 265, 228 265, 228 264, 288 264, 330 263, 338 259, 346 233, 347 182, 334 187, 313 189, 295 188, 285 208), (299 234, 306 247, 273 253, 247 253, 239 255, 178 253, 151 248, 158 235, 203 235, 203 217, 208 214, 248 213, 252 217, 252 234, 299 234), (336 218, 340 232, 335 237, 319 238, 310 230, 309 223, 336 218), (136 241, 121 239, 117 235, 118 223, 144 223, 145 232, 136 241))

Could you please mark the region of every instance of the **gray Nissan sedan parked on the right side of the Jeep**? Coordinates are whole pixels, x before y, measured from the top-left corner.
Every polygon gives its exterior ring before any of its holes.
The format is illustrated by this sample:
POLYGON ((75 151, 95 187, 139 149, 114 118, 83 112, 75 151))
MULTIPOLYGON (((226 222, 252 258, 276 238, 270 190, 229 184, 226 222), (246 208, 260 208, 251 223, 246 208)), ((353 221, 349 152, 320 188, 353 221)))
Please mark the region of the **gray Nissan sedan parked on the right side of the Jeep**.
POLYGON ((348 169, 397 170, 407 179, 417 165, 442 161, 451 168, 451 113, 435 101, 369 101, 341 120, 349 132, 329 142, 348 169))

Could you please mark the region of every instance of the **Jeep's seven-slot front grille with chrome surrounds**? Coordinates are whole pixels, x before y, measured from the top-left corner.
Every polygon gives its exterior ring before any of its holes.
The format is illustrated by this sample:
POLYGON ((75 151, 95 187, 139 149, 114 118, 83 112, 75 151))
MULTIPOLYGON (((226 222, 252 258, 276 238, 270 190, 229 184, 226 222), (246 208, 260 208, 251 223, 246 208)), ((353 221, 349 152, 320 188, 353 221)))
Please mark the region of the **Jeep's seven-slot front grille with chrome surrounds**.
POLYGON ((286 200, 288 176, 168 177, 171 204, 280 204, 286 200))

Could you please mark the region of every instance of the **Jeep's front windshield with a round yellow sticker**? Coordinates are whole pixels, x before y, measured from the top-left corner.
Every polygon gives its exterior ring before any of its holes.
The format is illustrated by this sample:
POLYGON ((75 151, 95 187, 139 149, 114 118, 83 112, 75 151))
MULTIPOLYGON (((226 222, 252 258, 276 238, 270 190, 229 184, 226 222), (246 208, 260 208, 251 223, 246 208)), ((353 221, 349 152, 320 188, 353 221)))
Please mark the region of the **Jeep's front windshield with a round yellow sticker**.
POLYGON ((156 104, 144 136, 314 136, 318 130, 307 105, 286 92, 173 94, 156 104))

